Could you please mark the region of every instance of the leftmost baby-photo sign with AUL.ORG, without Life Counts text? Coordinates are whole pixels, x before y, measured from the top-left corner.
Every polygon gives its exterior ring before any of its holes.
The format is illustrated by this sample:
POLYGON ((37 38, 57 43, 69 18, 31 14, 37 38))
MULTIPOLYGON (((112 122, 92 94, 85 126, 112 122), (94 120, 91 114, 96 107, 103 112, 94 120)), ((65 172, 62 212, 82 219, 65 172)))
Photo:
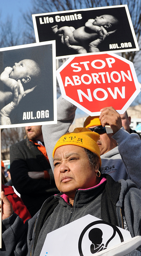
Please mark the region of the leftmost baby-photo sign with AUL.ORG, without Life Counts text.
POLYGON ((0 95, 0 128, 57 123, 55 41, 1 48, 0 95))

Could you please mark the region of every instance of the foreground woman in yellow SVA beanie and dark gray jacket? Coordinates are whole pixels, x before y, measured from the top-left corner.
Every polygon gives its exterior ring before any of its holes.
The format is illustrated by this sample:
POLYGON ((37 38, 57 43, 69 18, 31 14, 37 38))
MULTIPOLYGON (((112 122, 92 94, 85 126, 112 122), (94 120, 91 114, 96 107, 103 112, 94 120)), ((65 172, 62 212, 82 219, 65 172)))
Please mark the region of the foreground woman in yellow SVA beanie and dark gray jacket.
MULTIPOLYGON (((2 256, 17 255, 17 252, 19 256, 38 256, 49 232, 87 214, 128 228, 132 237, 141 236, 141 190, 130 180, 116 182, 108 174, 100 175, 98 138, 98 133, 76 128, 59 139, 53 150, 54 177, 62 193, 49 197, 28 225, 22 224, 1 192, 2 256)), ((64 243, 65 239, 62 246, 64 243)), ((98 241, 92 247, 105 248, 101 243, 98 241)), ((70 244, 70 250, 72 247, 70 244)), ((58 254, 61 255, 59 251, 58 254)), ((136 251, 134 255, 141 254, 136 251)))

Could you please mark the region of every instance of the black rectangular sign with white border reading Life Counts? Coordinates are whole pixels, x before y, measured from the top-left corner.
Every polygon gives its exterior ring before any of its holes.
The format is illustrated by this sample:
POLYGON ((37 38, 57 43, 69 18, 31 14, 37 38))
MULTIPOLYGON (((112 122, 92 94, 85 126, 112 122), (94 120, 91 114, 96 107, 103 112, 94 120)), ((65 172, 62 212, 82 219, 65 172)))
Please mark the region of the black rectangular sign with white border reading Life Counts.
POLYGON ((57 59, 84 51, 139 50, 127 5, 32 14, 32 19, 36 42, 56 40, 57 59), (66 36, 73 48, 62 43, 66 36), (100 43, 97 45, 98 38, 100 43))

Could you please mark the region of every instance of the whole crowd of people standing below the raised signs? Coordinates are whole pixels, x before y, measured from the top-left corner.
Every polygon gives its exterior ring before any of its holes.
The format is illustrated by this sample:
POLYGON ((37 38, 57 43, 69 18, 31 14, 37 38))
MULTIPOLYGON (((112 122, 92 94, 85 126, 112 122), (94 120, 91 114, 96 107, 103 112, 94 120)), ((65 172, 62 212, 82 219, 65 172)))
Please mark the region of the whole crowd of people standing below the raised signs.
POLYGON ((26 138, 10 148, 21 198, 2 186, 2 256, 39 256, 48 233, 87 214, 141 236, 141 139, 127 112, 105 107, 68 132, 76 107, 60 96, 57 109, 56 125, 26 126, 26 138))

